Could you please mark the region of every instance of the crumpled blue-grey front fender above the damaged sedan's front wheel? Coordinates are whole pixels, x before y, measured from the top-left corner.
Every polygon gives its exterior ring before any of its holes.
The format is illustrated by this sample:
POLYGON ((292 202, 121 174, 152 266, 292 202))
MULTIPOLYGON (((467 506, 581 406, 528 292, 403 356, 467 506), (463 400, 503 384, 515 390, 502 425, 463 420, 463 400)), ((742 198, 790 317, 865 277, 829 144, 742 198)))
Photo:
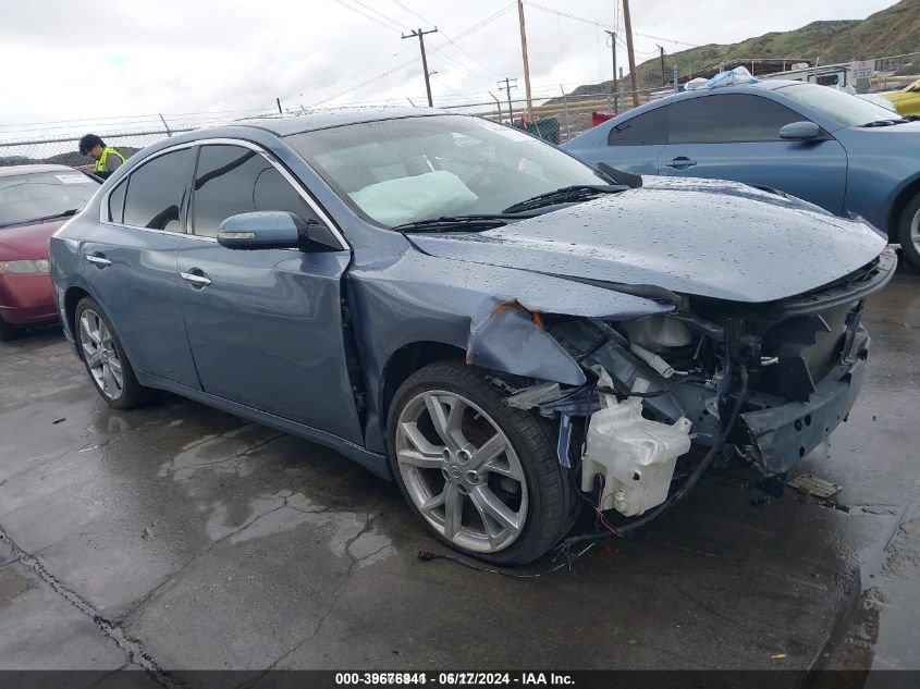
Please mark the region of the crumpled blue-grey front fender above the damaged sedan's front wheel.
POLYGON ((347 291, 366 377, 369 448, 383 446, 383 371, 406 345, 443 343, 466 352, 470 365, 577 385, 584 373, 543 329, 543 313, 628 320, 673 310, 601 286, 414 248, 385 264, 353 267, 347 291))

